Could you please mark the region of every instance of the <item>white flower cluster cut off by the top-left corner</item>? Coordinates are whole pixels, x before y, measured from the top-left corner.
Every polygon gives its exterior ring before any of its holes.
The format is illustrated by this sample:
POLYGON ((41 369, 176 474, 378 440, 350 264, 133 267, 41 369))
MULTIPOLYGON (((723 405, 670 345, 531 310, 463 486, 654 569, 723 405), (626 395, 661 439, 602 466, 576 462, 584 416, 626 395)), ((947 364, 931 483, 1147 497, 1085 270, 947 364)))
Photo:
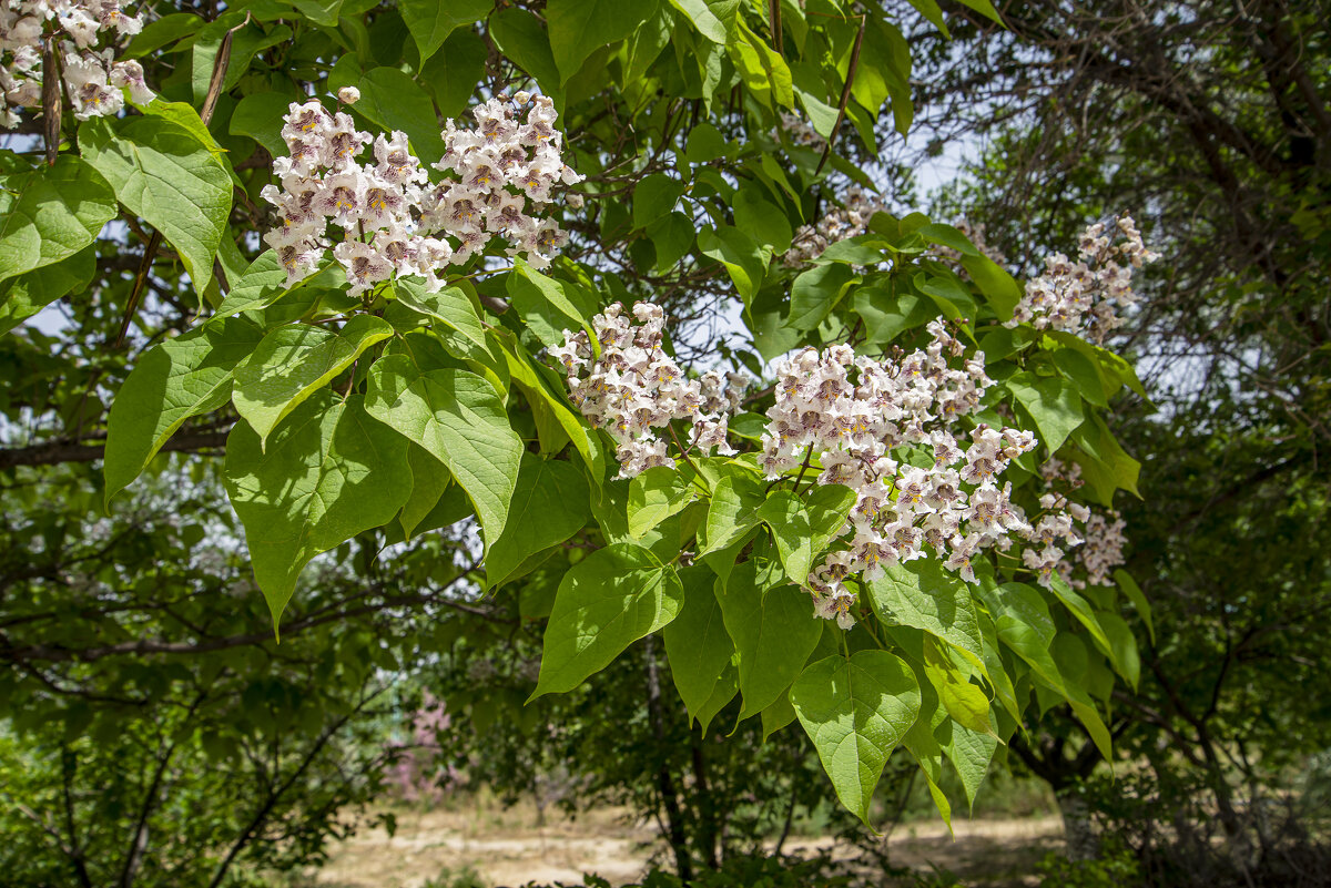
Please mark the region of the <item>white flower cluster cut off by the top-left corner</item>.
POLYGON ((150 102, 154 93, 144 82, 142 65, 114 61, 109 47, 96 52, 108 35, 106 43, 114 43, 142 27, 138 16, 125 15, 120 0, 5 0, 0 5, 0 126, 17 126, 19 108, 41 108, 41 49, 47 40, 57 41, 76 118, 117 114, 125 106, 125 89, 134 104, 150 102))

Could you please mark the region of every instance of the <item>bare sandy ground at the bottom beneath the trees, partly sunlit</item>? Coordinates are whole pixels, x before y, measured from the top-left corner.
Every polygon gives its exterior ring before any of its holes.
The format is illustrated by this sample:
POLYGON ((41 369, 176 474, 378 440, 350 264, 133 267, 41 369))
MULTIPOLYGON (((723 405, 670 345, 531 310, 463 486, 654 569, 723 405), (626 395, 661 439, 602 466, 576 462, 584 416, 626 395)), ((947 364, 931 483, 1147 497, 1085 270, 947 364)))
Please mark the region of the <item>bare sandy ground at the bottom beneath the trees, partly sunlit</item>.
MULTIPOLYGON (((430 879, 473 868, 490 885, 528 881, 582 883, 595 872, 615 884, 638 879, 660 849, 658 833, 635 827, 618 810, 595 811, 568 820, 558 814, 536 827, 535 810, 399 811, 394 836, 367 831, 338 845, 327 865, 311 873, 326 888, 421 888, 430 879)), ((1036 884, 1024 880, 1034 861, 1062 845, 1055 818, 961 820, 956 840, 942 823, 897 827, 888 837, 893 865, 932 872, 946 869, 966 885, 993 888, 1036 884)), ((789 851, 832 848, 832 839, 792 839, 789 851)), ((836 849, 852 856, 853 848, 836 849)))

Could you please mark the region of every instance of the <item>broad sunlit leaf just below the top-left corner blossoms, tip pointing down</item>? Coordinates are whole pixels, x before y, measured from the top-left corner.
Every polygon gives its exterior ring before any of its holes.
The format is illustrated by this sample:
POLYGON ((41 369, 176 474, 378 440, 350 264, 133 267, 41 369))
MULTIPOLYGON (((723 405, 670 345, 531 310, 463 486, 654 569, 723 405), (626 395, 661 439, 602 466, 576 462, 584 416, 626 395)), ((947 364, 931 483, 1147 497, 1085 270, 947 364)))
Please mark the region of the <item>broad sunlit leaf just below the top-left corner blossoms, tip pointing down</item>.
POLYGON ((161 231, 202 295, 232 211, 232 179, 198 137, 161 117, 105 117, 79 128, 84 158, 134 215, 161 231))

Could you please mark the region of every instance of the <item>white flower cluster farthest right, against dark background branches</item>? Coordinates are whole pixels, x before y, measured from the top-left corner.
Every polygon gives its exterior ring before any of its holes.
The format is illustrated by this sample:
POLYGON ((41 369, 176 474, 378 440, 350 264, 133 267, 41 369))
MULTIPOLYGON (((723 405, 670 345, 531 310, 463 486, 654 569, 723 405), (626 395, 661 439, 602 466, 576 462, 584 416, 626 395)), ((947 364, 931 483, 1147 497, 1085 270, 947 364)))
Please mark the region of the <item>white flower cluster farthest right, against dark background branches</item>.
POLYGON ((1037 330, 1079 332, 1105 342, 1105 336, 1123 324, 1119 310, 1137 304, 1133 292, 1133 269, 1159 258, 1142 243, 1133 217, 1121 215, 1115 222, 1122 235, 1118 243, 1105 234, 1105 225, 1086 229, 1078 249, 1079 259, 1062 253, 1045 259, 1045 274, 1026 282, 1026 292, 1012 320, 1004 326, 1030 323, 1037 330))

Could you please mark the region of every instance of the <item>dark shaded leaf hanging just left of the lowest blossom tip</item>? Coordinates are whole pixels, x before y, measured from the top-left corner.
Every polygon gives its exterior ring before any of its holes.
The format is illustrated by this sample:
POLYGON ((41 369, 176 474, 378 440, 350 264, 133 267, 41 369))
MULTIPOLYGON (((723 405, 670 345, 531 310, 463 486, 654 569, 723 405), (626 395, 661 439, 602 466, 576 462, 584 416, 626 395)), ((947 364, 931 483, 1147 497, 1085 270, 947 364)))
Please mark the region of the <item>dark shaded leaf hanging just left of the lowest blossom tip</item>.
POLYGON ((757 715, 796 679, 823 635, 805 592, 771 586, 753 560, 736 565, 717 582, 725 631, 739 651, 740 718, 757 715))

